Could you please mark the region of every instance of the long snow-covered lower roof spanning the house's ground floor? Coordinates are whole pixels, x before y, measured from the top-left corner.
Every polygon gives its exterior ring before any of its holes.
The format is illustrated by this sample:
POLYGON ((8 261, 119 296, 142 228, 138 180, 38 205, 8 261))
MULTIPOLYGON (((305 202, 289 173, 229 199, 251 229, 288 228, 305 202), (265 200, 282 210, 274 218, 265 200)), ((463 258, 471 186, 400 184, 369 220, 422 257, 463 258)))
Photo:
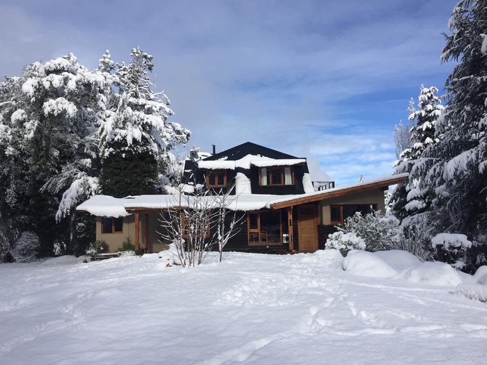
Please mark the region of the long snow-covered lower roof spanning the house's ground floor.
MULTIPOLYGON (((407 176, 407 173, 396 174, 393 176, 376 178, 369 181, 359 182, 358 184, 346 185, 343 187, 327 189, 319 192, 312 192, 306 194, 295 195, 266 195, 266 194, 240 194, 228 207, 230 210, 258 210, 262 208, 274 208, 275 204, 285 202, 292 202, 294 200, 302 200, 303 198, 311 198, 311 201, 318 201, 326 199, 327 196, 336 196, 336 193, 341 192, 342 195, 354 193, 359 190, 356 188, 375 188, 377 184, 382 183, 383 186, 397 184, 407 176)), ((245 185, 245 182, 243 182, 245 185)), ((243 189, 242 189, 243 190, 243 189)), ((244 190, 245 191, 245 190, 244 190)), ((193 196, 183 195, 181 197, 181 204, 179 202, 179 195, 140 195, 126 198, 113 198, 107 195, 95 195, 78 205, 77 211, 88 212, 97 216, 126 216, 130 213, 127 210, 136 209, 164 209, 176 206, 191 206, 193 196)), ((213 201, 212 196, 206 196, 204 199, 213 201)), ((299 203, 298 203, 299 204, 299 203)), ((282 204, 281 204, 282 205, 282 204)), ((289 205, 289 204, 287 204, 289 205)), ((278 208, 278 207, 275 207, 278 208)))

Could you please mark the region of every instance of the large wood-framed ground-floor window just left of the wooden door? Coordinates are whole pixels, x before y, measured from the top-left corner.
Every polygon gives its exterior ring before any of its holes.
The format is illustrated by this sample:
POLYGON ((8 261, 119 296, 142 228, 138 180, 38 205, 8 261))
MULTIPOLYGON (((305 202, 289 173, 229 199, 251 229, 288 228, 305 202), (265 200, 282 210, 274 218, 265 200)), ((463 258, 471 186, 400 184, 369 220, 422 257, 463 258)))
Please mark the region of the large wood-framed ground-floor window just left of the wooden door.
POLYGON ((252 211, 247 215, 249 245, 282 245, 287 242, 287 212, 252 211))

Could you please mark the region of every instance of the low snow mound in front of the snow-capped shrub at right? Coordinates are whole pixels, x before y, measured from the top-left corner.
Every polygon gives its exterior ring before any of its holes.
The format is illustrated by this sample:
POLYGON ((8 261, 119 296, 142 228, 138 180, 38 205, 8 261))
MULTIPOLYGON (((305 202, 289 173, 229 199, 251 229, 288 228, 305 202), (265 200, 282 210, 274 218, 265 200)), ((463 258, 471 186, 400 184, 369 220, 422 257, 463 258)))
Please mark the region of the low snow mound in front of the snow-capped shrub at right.
POLYGON ((424 262, 407 271, 405 279, 413 283, 426 283, 438 286, 457 286, 463 282, 459 272, 442 262, 424 262))

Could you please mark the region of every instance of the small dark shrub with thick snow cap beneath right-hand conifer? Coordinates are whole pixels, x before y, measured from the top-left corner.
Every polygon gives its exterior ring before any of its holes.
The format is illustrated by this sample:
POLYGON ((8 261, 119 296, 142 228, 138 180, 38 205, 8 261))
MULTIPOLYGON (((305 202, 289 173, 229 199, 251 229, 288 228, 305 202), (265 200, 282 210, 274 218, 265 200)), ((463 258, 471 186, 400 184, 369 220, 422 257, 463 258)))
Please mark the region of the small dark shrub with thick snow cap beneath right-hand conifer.
POLYGON ((455 233, 439 233, 431 240, 439 261, 446 262, 457 269, 465 266, 465 255, 472 247, 472 242, 466 235, 455 233))

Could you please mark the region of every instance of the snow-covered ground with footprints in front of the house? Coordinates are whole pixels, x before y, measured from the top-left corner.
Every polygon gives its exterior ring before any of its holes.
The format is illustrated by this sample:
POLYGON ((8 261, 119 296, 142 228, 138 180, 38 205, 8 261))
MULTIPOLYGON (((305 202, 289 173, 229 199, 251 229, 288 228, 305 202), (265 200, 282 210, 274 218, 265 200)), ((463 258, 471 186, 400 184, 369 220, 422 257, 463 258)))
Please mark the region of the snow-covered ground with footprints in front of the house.
POLYGON ((397 255, 378 261, 390 278, 358 276, 370 268, 350 255, 343 271, 336 253, 0 265, 0 363, 485 363, 487 304, 397 255))

